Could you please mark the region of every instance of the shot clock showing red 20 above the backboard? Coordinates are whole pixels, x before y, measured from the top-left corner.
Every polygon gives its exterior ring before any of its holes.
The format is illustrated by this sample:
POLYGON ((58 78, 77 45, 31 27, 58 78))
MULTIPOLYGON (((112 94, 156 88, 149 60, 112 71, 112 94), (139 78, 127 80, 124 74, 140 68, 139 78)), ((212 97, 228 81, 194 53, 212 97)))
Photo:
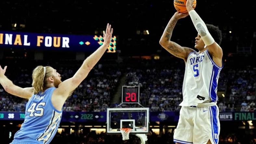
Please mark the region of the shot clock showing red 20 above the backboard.
POLYGON ((139 103, 139 86, 122 86, 122 103, 139 103))

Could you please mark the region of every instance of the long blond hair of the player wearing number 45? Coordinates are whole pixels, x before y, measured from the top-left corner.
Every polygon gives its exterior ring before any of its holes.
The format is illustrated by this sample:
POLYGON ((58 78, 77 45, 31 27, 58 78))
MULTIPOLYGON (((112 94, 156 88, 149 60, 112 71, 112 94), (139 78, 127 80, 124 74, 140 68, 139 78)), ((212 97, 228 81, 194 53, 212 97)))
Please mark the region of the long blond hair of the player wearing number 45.
POLYGON ((34 94, 38 92, 43 92, 46 84, 47 78, 52 76, 52 69, 50 66, 37 66, 32 73, 32 87, 34 87, 34 94))

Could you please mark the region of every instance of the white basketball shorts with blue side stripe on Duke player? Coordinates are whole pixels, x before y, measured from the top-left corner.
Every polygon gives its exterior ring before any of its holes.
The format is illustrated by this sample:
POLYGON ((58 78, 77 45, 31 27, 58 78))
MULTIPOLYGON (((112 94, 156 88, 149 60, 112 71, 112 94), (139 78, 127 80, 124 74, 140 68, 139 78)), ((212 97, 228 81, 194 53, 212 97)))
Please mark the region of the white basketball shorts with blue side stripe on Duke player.
POLYGON ((173 141, 181 144, 218 144, 220 120, 218 106, 182 106, 173 141))

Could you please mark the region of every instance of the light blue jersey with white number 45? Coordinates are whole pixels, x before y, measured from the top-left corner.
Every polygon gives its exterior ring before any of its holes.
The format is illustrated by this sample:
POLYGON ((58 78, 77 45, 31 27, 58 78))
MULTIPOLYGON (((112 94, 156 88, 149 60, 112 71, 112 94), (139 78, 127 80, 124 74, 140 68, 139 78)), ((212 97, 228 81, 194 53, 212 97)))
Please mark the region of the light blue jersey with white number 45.
POLYGON ((44 93, 32 95, 26 105, 25 120, 14 135, 12 143, 48 144, 55 136, 62 116, 51 102, 56 88, 48 88, 44 93))

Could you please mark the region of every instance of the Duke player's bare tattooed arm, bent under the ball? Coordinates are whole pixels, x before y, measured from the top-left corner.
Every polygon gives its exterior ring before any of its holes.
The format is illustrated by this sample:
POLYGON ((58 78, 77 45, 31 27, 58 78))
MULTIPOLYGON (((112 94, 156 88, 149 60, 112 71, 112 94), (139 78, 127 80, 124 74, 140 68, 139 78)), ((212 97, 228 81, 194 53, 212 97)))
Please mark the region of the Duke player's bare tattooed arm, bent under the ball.
POLYGON ((182 13, 176 12, 173 15, 173 17, 170 19, 169 23, 167 24, 159 42, 160 45, 164 49, 166 49, 169 53, 173 54, 176 57, 184 59, 185 62, 187 60, 187 55, 190 52, 193 52, 195 50, 188 47, 182 47, 179 44, 172 42, 171 36, 173 33, 174 26, 176 25, 178 19, 185 18, 186 16, 188 16, 188 14, 182 14, 182 13))

